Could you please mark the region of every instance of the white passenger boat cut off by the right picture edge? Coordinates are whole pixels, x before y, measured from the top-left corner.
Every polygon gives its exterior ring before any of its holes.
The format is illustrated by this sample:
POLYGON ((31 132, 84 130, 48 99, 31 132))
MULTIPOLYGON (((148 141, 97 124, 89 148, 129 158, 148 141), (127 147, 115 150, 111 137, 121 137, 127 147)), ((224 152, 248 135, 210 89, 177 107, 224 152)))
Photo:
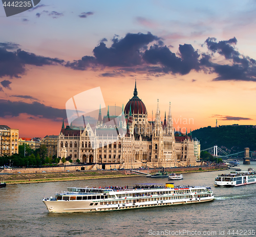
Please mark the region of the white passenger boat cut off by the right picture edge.
POLYGON ((241 186, 256 183, 256 172, 248 168, 248 171, 230 171, 230 174, 219 175, 215 179, 217 186, 241 186))

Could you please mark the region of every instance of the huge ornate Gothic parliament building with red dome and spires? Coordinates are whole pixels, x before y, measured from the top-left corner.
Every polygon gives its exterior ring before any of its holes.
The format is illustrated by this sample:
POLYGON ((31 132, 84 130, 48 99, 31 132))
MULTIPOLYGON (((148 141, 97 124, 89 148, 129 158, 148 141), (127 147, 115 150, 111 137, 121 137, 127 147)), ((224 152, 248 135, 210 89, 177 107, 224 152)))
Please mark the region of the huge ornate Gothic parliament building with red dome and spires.
POLYGON ((155 121, 148 121, 146 106, 138 97, 136 82, 132 99, 119 116, 102 117, 83 127, 64 126, 58 135, 57 157, 82 163, 116 164, 119 168, 157 168, 197 165, 200 143, 190 133, 175 132, 169 103, 161 121, 159 103, 155 121))

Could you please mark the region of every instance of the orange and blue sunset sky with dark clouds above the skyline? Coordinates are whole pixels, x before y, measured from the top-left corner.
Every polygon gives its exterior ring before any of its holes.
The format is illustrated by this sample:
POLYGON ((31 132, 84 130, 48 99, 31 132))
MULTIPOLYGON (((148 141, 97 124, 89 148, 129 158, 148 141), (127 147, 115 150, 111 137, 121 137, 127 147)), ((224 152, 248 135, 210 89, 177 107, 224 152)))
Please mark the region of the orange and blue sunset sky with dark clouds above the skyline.
POLYGON ((125 106, 137 79, 149 119, 159 99, 176 129, 255 125, 255 13, 255 1, 41 0, 10 17, 0 6, 0 124, 58 135, 70 98, 100 87, 106 106, 125 106))

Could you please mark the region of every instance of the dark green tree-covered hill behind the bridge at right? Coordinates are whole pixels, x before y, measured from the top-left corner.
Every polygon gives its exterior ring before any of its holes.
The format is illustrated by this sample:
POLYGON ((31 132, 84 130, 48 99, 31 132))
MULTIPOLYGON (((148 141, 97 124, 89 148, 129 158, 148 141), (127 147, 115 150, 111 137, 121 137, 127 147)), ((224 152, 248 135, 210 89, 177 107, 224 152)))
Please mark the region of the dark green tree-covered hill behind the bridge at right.
POLYGON ((218 145, 228 154, 242 152, 245 147, 256 150, 256 128, 252 125, 228 125, 202 127, 192 132, 201 144, 201 150, 218 145))

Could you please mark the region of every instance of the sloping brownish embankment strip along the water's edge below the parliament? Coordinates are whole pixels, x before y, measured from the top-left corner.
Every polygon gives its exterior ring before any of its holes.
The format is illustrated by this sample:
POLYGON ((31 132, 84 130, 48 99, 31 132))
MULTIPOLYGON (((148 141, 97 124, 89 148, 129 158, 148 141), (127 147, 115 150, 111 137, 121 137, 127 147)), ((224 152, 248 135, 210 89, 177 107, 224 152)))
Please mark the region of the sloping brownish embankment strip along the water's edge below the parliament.
MULTIPOLYGON (((202 170, 167 170, 175 171, 179 174, 187 173, 201 173, 201 172, 211 172, 225 170, 223 168, 212 168, 202 170)), ((111 178, 126 178, 126 177, 139 177, 141 175, 131 174, 128 170, 98 170, 98 171, 79 171, 79 172, 60 172, 60 173, 36 173, 36 174, 13 174, 13 175, 1 175, 0 178, 3 179, 7 185, 12 184, 28 184, 28 183, 46 183, 46 182, 60 182, 60 181, 74 181, 74 180, 92 180, 92 179, 111 179, 111 178)))

